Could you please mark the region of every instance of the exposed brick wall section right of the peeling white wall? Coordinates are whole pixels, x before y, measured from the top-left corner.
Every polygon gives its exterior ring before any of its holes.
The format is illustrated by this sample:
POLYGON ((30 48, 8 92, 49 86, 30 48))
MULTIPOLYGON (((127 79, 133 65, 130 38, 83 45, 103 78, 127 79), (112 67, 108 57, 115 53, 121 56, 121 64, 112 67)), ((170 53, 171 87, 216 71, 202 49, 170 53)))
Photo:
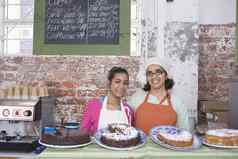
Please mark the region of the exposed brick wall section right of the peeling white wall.
POLYGON ((235 62, 235 24, 200 25, 199 98, 228 101, 235 62))

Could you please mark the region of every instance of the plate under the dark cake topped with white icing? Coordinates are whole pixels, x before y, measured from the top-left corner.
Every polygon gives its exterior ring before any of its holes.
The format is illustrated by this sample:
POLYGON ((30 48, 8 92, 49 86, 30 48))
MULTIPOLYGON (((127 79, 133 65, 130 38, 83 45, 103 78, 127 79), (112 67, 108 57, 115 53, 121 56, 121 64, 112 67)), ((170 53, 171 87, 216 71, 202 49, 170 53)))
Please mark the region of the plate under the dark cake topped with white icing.
POLYGON ((143 131, 138 130, 140 133, 140 143, 136 146, 131 146, 131 147, 125 147, 125 148, 120 148, 120 147, 111 147, 111 146, 107 146, 104 143, 101 142, 101 137, 102 137, 102 133, 106 131, 106 129, 100 129, 96 132, 95 134, 95 142, 99 145, 102 146, 106 149, 110 149, 110 150, 116 150, 116 151, 128 151, 128 150, 134 150, 134 149, 138 149, 142 146, 145 145, 146 143, 146 135, 143 131))

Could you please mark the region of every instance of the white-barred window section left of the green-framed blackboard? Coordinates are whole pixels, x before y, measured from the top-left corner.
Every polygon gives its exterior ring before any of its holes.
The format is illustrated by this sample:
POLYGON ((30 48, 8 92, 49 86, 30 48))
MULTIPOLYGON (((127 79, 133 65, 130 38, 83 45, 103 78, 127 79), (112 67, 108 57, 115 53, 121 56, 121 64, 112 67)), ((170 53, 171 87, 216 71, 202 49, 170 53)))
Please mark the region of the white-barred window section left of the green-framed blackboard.
POLYGON ((2 55, 31 55, 33 39, 34 0, 2 0, 2 55))

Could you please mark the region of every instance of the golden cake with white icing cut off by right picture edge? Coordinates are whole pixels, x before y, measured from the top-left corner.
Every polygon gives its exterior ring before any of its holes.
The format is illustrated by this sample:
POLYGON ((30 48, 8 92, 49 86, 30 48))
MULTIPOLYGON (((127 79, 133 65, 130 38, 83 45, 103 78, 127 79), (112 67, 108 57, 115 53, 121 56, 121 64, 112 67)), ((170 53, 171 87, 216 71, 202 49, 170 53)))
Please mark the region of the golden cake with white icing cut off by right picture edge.
POLYGON ((208 130, 205 134, 205 142, 221 146, 238 146, 238 130, 215 129, 208 130))

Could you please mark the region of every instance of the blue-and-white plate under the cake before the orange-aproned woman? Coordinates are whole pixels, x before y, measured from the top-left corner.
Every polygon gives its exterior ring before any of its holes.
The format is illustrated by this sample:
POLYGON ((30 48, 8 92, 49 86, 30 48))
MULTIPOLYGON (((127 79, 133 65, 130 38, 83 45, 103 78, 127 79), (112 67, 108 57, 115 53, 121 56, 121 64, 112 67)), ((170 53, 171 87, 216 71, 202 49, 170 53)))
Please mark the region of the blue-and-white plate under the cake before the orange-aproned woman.
POLYGON ((168 145, 166 143, 163 143, 162 141, 160 141, 157 137, 158 132, 160 131, 160 129, 164 129, 164 128, 176 128, 173 126, 157 126, 154 127, 150 130, 150 136, 151 139, 154 143, 161 145, 162 147, 171 149, 171 150, 176 150, 176 151, 191 151, 191 150, 196 150, 198 148, 201 147, 202 143, 201 140, 199 139, 199 137, 197 135, 193 135, 193 145, 189 146, 189 147, 175 147, 175 146, 171 146, 168 145))

